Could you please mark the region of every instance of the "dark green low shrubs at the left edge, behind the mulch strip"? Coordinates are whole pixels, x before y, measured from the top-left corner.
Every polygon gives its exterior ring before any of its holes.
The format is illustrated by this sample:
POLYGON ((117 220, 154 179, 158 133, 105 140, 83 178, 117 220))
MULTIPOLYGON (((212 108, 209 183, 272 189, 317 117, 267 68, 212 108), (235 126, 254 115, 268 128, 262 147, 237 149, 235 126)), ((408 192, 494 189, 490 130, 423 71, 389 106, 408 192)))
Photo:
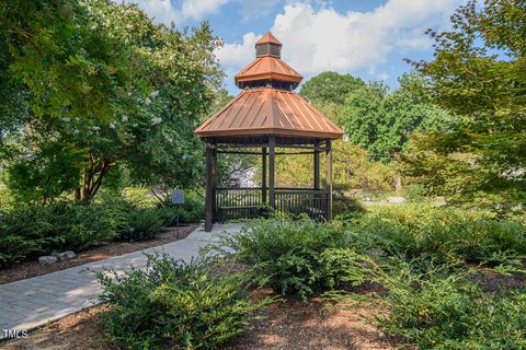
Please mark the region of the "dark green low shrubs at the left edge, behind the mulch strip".
POLYGON ((114 240, 126 208, 57 202, 0 213, 0 266, 53 252, 80 252, 114 240))

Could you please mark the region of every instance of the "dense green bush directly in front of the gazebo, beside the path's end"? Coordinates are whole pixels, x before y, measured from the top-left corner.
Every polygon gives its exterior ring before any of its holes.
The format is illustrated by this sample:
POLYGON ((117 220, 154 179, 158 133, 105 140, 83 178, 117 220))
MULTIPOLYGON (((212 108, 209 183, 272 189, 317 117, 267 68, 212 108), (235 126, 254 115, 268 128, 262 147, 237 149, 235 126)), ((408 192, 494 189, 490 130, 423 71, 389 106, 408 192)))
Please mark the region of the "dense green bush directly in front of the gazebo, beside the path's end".
POLYGON ((247 224, 220 240, 224 252, 254 266, 254 278, 301 300, 344 282, 359 283, 353 266, 363 257, 346 249, 347 235, 336 226, 308 218, 278 217, 247 224), (338 257, 338 258, 335 258, 338 257))

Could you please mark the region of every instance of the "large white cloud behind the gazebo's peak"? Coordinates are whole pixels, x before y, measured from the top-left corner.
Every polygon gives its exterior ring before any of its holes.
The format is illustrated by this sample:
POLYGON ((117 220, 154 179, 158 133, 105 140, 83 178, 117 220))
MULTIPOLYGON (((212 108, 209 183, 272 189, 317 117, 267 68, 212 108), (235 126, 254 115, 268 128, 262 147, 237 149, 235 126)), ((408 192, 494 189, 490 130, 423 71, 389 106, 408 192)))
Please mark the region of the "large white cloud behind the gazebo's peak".
MULTIPOLYGON (((395 50, 428 49, 423 32, 448 23, 462 1, 388 0, 368 12, 347 13, 296 2, 276 15, 271 31, 284 45, 284 60, 301 73, 371 69, 395 50)), ((226 44, 218 50, 221 65, 227 70, 244 67, 254 58, 259 36, 250 32, 241 44, 226 44)))

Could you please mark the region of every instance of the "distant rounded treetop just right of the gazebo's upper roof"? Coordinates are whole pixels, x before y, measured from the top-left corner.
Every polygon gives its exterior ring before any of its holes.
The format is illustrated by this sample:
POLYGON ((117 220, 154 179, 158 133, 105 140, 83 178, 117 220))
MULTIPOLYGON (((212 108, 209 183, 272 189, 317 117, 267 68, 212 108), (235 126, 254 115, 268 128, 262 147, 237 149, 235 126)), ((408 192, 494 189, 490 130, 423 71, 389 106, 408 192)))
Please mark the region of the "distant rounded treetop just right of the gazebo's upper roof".
POLYGON ((365 88, 365 83, 359 78, 336 72, 323 72, 305 82, 299 94, 316 103, 342 105, 347 94, 363 88, 365 88))

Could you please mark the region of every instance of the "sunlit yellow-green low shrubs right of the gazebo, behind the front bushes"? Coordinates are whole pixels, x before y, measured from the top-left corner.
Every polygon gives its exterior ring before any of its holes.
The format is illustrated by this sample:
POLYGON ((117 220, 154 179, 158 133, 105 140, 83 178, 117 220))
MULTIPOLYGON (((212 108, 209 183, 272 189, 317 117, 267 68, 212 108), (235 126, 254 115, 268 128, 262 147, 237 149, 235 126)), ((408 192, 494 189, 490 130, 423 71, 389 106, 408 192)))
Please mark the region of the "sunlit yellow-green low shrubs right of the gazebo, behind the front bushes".
MULTIPOLYGON (((345 220, 345 219, 344 219, 345 220)), ((526 226, 488 213, 422 205, 347 215, 355 244, 408 258, 500 264, 526 256, 526 226)))

